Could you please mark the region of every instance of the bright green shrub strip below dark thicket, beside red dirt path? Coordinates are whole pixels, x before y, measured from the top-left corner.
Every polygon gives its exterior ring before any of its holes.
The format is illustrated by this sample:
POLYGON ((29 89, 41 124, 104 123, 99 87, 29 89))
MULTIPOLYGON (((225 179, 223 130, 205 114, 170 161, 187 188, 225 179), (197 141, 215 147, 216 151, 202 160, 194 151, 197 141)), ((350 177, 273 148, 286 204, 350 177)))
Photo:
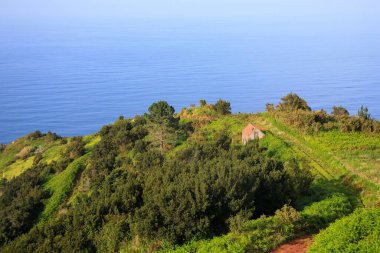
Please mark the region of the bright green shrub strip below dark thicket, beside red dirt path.
MULTIPOLYGON (((211 240, 191 241, 177 247, 163 245, 162 252, 264 253, 294 237, 305 233, 318 232, 320 228, 325 228, 329 223, 349 214, 351 210, 350 202, 347 196, 343 194, 333 195, 317 201, 300 212, 297 212, 289 205, 284 205, 275 212, 274 216, 261 216, 258 219, 242 222, 237 230, 233 230, 232 233, 227 235, 214 237, 211 240), (328 210, 331 210, 331 213, 328 210), (318 218, 316 219, 316 217, 318 218), (321 223, 321 221, 323 222, 321 223), (318 228, 317 230, 316 227, 318 228)), ((320 247, 322 248, 323 244, 320 244, 320 247)), ((315 252, 329 251, 316 250, 315 252)))

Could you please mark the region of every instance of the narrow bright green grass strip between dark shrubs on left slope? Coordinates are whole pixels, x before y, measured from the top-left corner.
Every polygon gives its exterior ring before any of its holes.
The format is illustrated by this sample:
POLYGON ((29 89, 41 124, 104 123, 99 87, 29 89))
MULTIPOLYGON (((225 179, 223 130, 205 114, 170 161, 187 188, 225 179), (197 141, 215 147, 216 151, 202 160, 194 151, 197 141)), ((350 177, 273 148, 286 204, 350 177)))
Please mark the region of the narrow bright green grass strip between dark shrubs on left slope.
POLYGON ((44 188, 51 193, 51 197, 40 216, 41 223, 50 219, 65 203, 75 186, 78 174, 85 168, 89 155, 86 154, 74 160, 64 171, 54 175, 46 182, 44 188))

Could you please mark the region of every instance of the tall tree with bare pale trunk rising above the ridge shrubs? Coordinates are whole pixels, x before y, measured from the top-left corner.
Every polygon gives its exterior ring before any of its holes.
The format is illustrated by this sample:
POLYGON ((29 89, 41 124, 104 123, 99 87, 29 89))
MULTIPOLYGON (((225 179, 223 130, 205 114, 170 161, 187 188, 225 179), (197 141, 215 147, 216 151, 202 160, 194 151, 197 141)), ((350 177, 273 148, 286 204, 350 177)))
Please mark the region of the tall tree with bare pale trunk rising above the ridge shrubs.
POLYGON ((158 101, 149 107, 149 136, 153 145, 158 145, 161 154, 168 148, 178 128, 178 118, 174 117, 174 108, 166 101, 158 101))

